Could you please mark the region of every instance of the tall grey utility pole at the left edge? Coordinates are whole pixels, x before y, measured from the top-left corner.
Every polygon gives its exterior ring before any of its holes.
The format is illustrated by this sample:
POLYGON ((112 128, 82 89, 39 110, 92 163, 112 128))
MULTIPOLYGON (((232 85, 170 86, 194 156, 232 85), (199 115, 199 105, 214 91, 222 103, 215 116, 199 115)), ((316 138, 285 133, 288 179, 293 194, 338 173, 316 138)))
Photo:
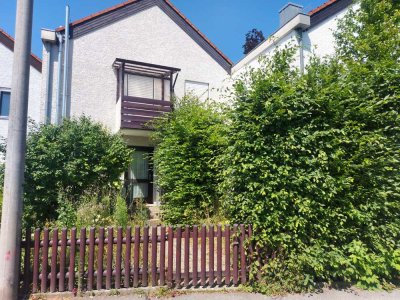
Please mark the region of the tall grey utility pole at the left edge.
POLYGON ((33 0, 17 0, 0 232, 0 299, 18 297, 33 0))

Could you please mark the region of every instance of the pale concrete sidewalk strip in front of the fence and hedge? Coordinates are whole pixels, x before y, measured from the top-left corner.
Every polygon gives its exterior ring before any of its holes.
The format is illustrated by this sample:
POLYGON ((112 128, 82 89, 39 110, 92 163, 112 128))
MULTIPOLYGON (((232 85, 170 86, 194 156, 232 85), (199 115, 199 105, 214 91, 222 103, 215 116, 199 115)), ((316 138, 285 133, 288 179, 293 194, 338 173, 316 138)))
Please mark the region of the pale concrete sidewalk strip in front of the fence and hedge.
POLYGON ((83 299, 83 300, 399 300, 400 290, 394 290, 391 292, 385 291, 362 291, 355 288, 347 290, 334 290, 324 289, 322 292, 304 294, 304 295, 287 295, 287 296, 275 296, 267 297, 260 294, 250 294, 238 291, 190 291, 182 294, 181 291, 166 291, 164 293, 153 291, 141 291, 131 292, 123 291, 119 295, 96 295, 96 296, 77 296, 73 297, 71 294, 47 294, 44 297, 32 296, 32 300, 39 299, 83 299))

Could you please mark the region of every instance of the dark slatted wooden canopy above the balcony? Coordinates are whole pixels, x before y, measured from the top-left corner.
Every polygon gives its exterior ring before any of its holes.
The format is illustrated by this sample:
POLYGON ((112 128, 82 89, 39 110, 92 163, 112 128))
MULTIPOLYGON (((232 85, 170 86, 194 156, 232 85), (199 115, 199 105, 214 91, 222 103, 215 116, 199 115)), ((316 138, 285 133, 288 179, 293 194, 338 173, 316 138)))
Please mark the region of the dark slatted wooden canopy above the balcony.
POLYGON ((156 78, 171 79, 175 73, 178 73, 181 69, 154 65, 139 61, 127 60, 122 58, 117 58, 113 63, 113 68, 122 69, 124 72, 151 76, 156 78))

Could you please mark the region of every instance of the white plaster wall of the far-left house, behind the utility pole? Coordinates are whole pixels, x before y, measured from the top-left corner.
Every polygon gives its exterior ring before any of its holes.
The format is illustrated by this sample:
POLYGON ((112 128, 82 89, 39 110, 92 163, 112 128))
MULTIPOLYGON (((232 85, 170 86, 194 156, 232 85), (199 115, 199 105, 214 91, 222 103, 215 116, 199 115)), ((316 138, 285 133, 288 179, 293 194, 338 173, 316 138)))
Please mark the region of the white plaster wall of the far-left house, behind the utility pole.
MULTIPOLYGON (((8 89, 11 91, 13 59, 14 53, 10 49, 6 48, 3 44, 0 44, 0 89, 8 89)), ((35 122, 40 121, 41 77, 42 74, 31 66, 29 79, 28 117, 35 122)), ((8 118, 0 118, 0 137, 7 138, 7 135, 8 118)))

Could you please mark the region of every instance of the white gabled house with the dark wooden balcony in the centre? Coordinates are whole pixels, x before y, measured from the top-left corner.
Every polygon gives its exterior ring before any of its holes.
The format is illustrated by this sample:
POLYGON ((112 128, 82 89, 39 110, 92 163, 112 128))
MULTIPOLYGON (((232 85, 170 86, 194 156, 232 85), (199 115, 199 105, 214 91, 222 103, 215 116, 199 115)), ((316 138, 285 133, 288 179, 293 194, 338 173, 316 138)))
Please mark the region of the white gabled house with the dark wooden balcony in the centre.
POLYGON ((145 123, 170 111, 173 96, 219 97, 231 61, 168 0, 127 1, 42 30, 42 41, 42 121, 86 115, 120 132, 136 150, 131 198, 157 204, 145 123))

